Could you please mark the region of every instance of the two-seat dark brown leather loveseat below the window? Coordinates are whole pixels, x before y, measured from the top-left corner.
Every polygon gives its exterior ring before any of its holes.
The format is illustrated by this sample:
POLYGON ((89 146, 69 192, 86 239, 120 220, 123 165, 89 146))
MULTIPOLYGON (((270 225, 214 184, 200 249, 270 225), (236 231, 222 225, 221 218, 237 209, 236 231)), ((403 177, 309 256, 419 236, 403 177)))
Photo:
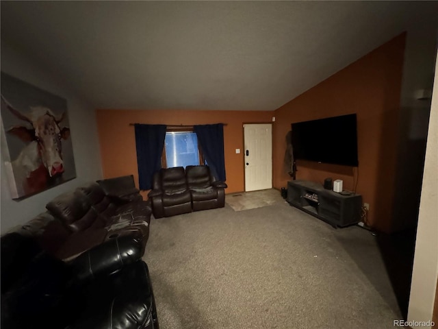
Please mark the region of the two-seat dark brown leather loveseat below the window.
POLYGON ((160 169, 153 175, 152 186, 148 197, 155 218, 225 205, 227 184, 216 181, 208 166, 160 169))

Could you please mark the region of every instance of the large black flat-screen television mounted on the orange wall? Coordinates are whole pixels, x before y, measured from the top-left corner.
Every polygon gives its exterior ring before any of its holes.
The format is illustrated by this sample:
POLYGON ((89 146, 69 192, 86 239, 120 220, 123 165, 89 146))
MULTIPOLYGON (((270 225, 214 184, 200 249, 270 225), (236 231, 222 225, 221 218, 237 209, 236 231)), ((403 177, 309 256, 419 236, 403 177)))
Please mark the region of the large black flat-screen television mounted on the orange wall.
POLYGON ((356 114, 292 123, 294 158, 357 167, 356 114))

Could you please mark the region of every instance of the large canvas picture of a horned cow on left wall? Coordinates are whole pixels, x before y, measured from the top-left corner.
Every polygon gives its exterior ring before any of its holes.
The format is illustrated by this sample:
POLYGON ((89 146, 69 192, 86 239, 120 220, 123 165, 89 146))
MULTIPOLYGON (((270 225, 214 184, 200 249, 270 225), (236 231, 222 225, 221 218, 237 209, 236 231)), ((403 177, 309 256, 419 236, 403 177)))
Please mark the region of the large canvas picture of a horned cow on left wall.
POLYGON ((75 178, 66 99, 1 72, 1 151, 12 199, 75 178))

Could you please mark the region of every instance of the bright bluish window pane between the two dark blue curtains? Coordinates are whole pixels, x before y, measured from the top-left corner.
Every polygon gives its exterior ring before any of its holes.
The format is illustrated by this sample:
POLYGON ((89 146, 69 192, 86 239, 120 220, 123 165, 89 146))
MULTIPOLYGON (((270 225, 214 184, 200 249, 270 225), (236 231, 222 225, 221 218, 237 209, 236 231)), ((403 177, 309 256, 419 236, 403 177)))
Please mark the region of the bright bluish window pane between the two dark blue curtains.
POLYGON ((192 131, 168 131, 164 139, 163 168, 203 164, 198 138, 192 131))

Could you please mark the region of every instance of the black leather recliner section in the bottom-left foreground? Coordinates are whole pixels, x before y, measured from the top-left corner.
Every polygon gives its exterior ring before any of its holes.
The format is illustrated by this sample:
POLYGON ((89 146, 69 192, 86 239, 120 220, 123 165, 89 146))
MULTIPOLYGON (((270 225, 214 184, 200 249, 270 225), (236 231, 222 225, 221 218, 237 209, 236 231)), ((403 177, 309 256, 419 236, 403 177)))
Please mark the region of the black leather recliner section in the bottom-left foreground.
POLYGON ((70 262, 26 230, 1 237, 1 328, 159 328, 139 232, 70 262))

